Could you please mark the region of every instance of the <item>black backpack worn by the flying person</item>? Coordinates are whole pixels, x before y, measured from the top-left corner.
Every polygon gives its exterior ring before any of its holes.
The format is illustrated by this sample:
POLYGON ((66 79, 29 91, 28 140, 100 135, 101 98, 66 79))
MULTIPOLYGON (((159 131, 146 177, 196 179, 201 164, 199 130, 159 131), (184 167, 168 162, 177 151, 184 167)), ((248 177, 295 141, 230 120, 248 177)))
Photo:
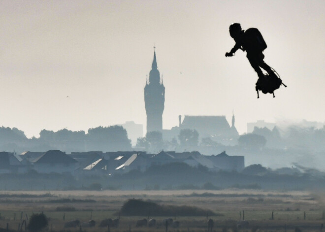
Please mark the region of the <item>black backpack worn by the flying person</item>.
POLYGON ((257 28, 247 29, 245 31, 245 37, 248 42, 246 50, 260 53, 267 48, 266 42, 257 28))

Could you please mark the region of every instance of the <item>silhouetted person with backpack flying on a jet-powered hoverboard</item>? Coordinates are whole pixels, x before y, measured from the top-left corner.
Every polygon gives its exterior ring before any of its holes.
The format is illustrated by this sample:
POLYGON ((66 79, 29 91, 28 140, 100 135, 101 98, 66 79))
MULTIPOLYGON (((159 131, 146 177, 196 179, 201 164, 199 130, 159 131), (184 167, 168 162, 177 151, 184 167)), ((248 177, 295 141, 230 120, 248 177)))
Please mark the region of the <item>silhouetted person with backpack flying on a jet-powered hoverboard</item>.
POLYGON ((239 23, 233 23, 229 27, 229 33, 236 43, 230 52, 226 52, 226 57, 233 56, 238 49, 246 51, 248 61, 259 76, 256 83, 258 98, 259 90, 264 94, 272 93, 273 97, 275 97, 274 90, 278 89, 283 83, 280 77, 275 74, 275 70, 263 61, 263 51, 267 48, 267 45, 260 31, 256 28, 249 28, 244 31, 239 23), (261 68, 268 74, 264 74, 261 68))

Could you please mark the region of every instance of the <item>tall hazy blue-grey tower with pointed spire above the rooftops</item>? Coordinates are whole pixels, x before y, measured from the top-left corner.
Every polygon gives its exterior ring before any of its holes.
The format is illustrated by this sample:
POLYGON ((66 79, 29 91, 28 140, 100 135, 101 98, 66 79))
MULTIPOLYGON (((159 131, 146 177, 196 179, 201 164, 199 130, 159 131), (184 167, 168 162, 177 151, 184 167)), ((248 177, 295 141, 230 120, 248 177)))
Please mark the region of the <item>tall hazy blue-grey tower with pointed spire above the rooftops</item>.
POLYGON ((156 51, 152 62, 149 80, 144 87, 144 103, 147 113, 147 133, 162 132, 162 112, 165 102, 165 87, 157 69, 156 51))

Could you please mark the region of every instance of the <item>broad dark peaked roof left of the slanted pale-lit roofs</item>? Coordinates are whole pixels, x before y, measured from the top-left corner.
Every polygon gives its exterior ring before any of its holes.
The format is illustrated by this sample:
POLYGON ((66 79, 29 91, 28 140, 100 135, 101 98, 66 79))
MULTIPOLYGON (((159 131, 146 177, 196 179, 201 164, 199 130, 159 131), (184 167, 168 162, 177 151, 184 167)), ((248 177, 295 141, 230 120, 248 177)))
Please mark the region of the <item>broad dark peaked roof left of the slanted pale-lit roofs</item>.
POLYGON ((45 152, 41 157, 39 157, 35 164, 73 164, 77 163, 76 160, 69 157, 60 150, 50 150, 45 152))

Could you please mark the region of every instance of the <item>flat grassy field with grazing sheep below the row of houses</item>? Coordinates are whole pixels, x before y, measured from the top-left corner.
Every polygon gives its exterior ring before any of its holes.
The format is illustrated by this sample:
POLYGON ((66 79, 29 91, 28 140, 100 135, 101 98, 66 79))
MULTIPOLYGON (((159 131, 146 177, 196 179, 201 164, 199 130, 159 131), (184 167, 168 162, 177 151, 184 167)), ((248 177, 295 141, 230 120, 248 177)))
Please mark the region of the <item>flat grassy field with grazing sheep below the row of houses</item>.
MULTIPOLYGON (((249 227, 241 231, 320 231, 325 221, 324 193, 320 192, 265 192, 257 190, 184 190, 184 191, 0 191, 0 228, 17 231, 22 220, 32 213, 44 212, 49 220, 49 231, 65 231, 67 221, 93 219, 99 225, 106 218, 119 217, 128 199, 151 200, 164 205, 189 205, 210 209, 218 216, 154 217, 155 228, 136 228, 139 218, 150 215, 121 216, 118 228, 111 232, 165 232, 162 219, 171 217, 180 222, 170 232, 205 232, 207 218, 215 221, 213 231, 238 231, 235 224, 243 215, 249 227), (273 212, 273 220, 272 220, 273 212), (23 215, 23 216, 22 216, 23 215), (306 215, 306 216, 304 216, 306 215), (21 220, 22 218, 22 220, 21 220)), ((83 231, 107 231, 107 228, 81 228, 83 231)), ((80 228, 68 229, 80 231, 80 228)))

